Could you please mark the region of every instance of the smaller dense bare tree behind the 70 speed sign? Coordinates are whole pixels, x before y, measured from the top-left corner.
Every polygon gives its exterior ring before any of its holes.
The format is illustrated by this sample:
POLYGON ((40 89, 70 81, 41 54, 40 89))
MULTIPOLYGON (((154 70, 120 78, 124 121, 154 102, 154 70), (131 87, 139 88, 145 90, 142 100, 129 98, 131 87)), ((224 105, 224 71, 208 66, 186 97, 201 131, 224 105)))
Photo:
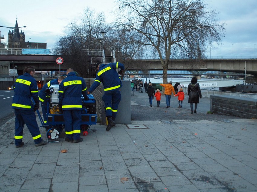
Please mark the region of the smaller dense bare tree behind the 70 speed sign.
POLYGON ((82 77, 89 77, 90 56, 86 49, 101 49, 99 39, 101 31, 108 30, 103 13, 95 14, 86 8, 79 22, 73 21, 67 26, 66 36, 57 41, 58 52, 71 68, 82 77))

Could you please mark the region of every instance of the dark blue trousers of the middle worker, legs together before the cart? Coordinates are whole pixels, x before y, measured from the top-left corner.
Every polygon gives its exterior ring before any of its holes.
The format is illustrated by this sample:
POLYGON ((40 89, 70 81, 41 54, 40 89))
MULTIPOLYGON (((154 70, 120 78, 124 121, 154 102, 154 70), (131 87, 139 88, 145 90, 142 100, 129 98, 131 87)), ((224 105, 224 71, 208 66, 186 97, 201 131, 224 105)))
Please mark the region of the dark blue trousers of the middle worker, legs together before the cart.
POLYGON ((80 139, 81 110, 63 110, 65 134, 70 140, 80 139))

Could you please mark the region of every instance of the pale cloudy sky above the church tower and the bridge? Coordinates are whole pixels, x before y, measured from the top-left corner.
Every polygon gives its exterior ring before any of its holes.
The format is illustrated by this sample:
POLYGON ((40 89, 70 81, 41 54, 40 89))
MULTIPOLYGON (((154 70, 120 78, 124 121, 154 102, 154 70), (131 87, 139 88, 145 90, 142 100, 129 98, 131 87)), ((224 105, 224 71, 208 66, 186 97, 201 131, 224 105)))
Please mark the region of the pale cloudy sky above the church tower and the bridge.
MULTIPOLYGON (((207 58, 257 58, 257 1, 256 0, 206 0, 207 6, 219 12, 220 22, 225 22, 221 44, 211 43, 206 49, 207 58)), ((12 0, 1 2, 0 25, 27 26, 25 42, 47 42, 47 48, 56 46, 58 36, 65 27, 80 19, 86 7, 96 13, 103 12, 108 23, 114 20, 115 0, 12 0), (22 2, 22 5, 21 5, 22 2), (29 39, 31 38, 31 39, 29 39)), ((1 36, 8 42, 8 28, 0 27, 1 36)))

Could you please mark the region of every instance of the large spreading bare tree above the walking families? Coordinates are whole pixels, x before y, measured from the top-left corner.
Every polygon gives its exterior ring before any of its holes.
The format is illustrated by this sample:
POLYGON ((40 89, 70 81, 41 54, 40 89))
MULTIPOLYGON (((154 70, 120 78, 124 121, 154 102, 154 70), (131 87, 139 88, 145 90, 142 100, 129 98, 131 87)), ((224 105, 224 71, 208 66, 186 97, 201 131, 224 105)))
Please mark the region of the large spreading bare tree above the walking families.
POLYGON ((138 33, 157 53, 163 67, 163 83, 171 58, 202 58, 206 44, 219 42, 224 32, 216 11, 207 11, 203 0, 118 0, 117 24, 138 33))

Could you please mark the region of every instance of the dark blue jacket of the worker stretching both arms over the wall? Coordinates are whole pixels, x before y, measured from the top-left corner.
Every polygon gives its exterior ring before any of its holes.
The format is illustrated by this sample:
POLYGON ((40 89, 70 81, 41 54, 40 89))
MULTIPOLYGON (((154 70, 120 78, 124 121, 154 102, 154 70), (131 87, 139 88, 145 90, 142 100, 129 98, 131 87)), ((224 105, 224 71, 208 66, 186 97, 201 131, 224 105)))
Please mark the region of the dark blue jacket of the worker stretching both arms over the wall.
POLYGON ((121 87, 121 80, 119 79, 119 75, 116 71, 118 68, 121 70, 125 69, 124 65, 119 62, 100 65, 99 71, 96 73, 95 82, 88 91, 92 93, 101 82, 103 84, 104 91, 119 89, 121 87))

